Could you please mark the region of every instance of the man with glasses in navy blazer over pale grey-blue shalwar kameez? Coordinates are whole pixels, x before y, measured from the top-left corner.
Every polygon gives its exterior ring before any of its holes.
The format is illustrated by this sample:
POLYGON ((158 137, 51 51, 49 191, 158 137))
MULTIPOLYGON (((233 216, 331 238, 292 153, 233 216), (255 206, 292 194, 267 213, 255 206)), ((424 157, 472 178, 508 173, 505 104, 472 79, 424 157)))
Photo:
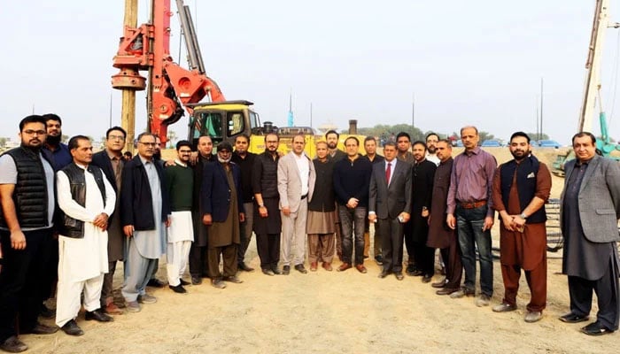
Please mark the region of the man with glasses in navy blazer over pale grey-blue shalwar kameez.
POLYGON ((156 261, 166 252, 166 228, 170 226, 170 204, 164 168, 153 158, 155 136, 138 135, 138 153, 123 168, 120 211, 123 232, 129 238, 122 295, 129 312, 140 304, 154 304, 146 293, 156 261))

